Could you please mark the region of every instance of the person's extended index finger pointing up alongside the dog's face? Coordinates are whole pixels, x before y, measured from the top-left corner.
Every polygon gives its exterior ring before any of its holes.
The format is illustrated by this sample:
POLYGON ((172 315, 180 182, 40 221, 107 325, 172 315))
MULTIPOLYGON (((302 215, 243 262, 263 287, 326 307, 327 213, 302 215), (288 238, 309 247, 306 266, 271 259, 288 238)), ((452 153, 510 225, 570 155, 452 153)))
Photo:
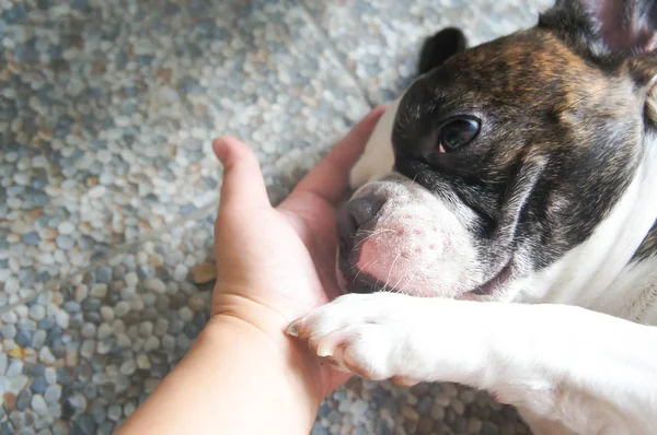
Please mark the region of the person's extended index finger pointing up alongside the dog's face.
POLYGON ((385 106, 377 106, 299 183, 292 195, 316 195, 339 201, 351 166, 356 164, 385 106))

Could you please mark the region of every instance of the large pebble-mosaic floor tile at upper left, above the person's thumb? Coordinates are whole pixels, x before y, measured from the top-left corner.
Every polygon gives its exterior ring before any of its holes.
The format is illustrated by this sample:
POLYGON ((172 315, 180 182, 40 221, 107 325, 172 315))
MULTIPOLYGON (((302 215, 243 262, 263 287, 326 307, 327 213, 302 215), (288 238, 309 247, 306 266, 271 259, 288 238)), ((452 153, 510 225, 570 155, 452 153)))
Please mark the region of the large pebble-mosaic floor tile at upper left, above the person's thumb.
POLYGON ((289 1, 0 4, 0 306, 214 203, 219 132, 287 176, 368 110, 289 1))

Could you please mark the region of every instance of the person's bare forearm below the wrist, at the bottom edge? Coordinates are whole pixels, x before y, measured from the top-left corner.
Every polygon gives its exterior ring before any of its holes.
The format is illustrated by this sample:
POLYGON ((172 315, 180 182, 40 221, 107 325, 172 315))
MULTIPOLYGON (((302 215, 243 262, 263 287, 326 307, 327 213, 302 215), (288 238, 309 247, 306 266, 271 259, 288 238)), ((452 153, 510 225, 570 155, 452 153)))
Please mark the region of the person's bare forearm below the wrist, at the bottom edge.
POLYGON ((308 434, 321 397, 288 343, 214 318, 119 434, 308 434))

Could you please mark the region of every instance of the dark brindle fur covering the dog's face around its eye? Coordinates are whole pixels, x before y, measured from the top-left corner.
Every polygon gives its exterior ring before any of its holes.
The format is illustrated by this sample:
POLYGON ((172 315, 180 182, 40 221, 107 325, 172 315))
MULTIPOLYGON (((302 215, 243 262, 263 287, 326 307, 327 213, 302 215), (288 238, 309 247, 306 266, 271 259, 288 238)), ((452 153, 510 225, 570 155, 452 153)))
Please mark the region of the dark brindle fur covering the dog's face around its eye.
MULTIPOLYGON (((601 56, 587 38, 595 26, 579 23, 581 37, 563 30, 577 20, 583 17, 566 16, 557 5, 529 31, 465 51, 457 44, 446 47, 452 56, 425 45, 423 56, 439 61, 428 68, 430 59, 420 59, 430 71, 402 99, 393 131, 400 173, 477 211, 484 239, 493 240, 505 231, 500 225, 514 221, 505 246, 481 249, 498 257, 529 247, 534 268, 591 235, 633 178, 643 153, 634 144, 655 133, 650 80, 657 59, 601 56), (481 119, 479 137, 462 151, 439 154, 439 126, 462 115, 481 119), (509 220, 508 186, 539 162, 532 193, 509 220)), ((635 259, 657 254, 656 234, 653 227, 635 259)))

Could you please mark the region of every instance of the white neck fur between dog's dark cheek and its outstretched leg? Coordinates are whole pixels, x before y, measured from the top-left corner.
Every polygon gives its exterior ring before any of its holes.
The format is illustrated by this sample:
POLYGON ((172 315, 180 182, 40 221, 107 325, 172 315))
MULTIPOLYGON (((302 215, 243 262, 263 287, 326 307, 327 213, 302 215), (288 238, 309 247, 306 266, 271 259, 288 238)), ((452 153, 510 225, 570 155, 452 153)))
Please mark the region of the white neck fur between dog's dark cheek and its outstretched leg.
MULTIPOLYGON (((648 277, 632 272, 630 259, 657 216, 657 137, 646 138, 646 153, 634 180, 593 234, 541 273, 515 283, 509 298, 527 303, 577 305, 635 320, 625 309, 629 286, 648 277)), ((653 281, 655 283, 655 281, 653 281)), ((645 285, 645 284, 644 284, 645 285)), ((636 296, 635 296, 636 297, 636 296)))

